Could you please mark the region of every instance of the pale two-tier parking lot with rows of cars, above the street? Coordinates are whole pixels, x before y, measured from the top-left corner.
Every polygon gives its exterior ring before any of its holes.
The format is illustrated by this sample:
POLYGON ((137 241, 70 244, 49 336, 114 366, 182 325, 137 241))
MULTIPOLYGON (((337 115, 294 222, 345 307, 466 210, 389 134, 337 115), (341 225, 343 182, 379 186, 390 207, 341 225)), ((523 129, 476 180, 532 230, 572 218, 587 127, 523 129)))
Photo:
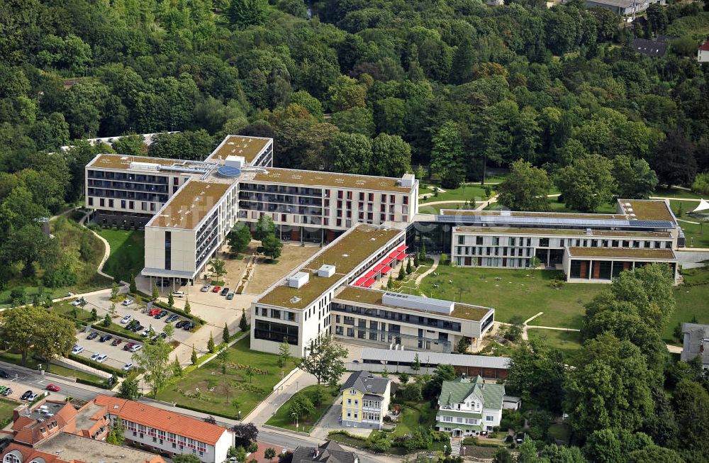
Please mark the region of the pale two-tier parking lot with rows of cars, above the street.
MULTIPOLYGON (((135 304, 131 304, 130 306, 123 306, 123 304, 117 304, 116 305, 116 315, 117 317, 113 319, 113 323, 116 324, 121 324, 121 326, 125 327, 125 323, 121 323, 121 318, 126 315, 130 315, 131 319, 138 320, 140 325, 143 325, 145 328, 152 328, 155 330, 156 334, 162 333, 162 330, 164 326, 166 325, 166 320, 169 318, 172 313, 169 313, 168 316, 164 316, 163 318, 156 319, 155 317, 149 316, 148 313, 145 312, 145 309, 143 311, 140 310, 134 310, 137 309, 138 306, 135 304)), ((180 317, 179 320, 184 320, 183 317, 180 317)), ((176 325, 179 320, 174 320, 172 321, 172 325, 176 325)), ((139 330, 135 335, 140 335, 143 330, 139 330)), ((113 337, 110 340, 106 340, 105 342, 101 342, 101 336, 105 335, 108 333, 104 333, 101 331, 101 323, 98 322, 95 324, 94 328, 86 328, 86 331, 83 331, 81 333, 77 334, 77 345, 80 345, 84 347, 84 351, 81 352, 79 355, 81 357, 86 357, 88 359, 91 358, 91 355, 94 355, 95 353, 100 353, 100 354, 106 354, 108 358, 104 362, 104 364, 107 364, 111 367, 116 367, 116 368, 122 368, 123 365, 127 364, 128 362, 132 362, 131 357, 133 356, 133 352, 130 352, 128 350, 123 350, 123 347, 127 345, 129 342, 137 342, 135 340, 131 340, 128 338, 121 338, 120 336, 113 335, 113 337), (92 332, 99 333, 96 338, 89 340, 86 339, 86 337, 89 335, 89 333, 92 332), (121 340, 121 343, 114 346, 112 345, 114 340, 121 340)), ((189 331, 182 330, 180 328, 175 328, 174 330, 174 335, 172 337, 173 340, 176 340, 178 342, 186 343, 187 340, 191 337, 192 333, 189 331)), ((145 341, 149 340, 149 338, 144 338, 145 341)), ((143 344, 143 342, 139 342, 139 344, 143 344)), ((191 348, 191 347, 190 347, 191 348)))

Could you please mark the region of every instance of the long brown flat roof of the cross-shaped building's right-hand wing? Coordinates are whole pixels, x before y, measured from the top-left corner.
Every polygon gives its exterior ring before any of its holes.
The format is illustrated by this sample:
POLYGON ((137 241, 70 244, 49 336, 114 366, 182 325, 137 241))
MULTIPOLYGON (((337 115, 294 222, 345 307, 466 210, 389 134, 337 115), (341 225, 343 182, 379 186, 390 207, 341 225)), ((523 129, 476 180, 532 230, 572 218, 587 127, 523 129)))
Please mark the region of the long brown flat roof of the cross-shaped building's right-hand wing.
MULTIPOLYGON (((257 172, 255 182, 274 182, 298 186, 323 186, 350 188, 392 193, 408 193, 413 186, 401 186, 401 179, 393 177, 372 177, 371 175, 340 174, 315 170, 267 168, 268 172, 257 172)), ((245 180, 244 182, 248 182, 245 180)), ((356 200, 356 199, 353 199, 356 200)))

